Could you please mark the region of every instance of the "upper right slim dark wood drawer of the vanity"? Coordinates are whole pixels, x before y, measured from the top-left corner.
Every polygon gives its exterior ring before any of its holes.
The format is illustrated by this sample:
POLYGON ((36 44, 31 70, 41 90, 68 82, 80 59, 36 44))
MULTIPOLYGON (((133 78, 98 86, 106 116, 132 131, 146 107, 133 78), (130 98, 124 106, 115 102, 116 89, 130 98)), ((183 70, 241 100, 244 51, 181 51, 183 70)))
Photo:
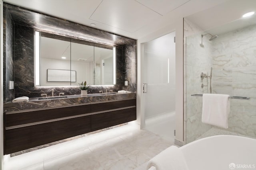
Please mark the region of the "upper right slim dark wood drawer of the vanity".
POLYGON ((92 113, 98 112, 98 111, 111 110, 111 109, 119 109, 122 107, 129 107, 129 106, 136 106, 136 99, 92 104, 92 113))

